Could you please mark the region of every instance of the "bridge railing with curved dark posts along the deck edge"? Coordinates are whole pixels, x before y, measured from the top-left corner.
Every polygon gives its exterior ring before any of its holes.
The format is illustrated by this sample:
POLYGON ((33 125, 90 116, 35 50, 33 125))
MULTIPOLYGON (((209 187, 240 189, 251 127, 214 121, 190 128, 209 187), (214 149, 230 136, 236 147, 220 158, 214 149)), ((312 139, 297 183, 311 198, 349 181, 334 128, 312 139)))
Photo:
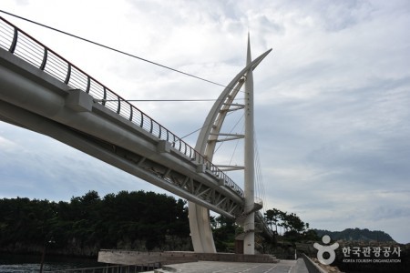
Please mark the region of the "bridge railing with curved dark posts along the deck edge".
POLYGON ((190 157, 191 160, 204 164, 211 173, 224 180, 225 186, 231 187, 235 193, 243 197, 241 187, 181 138, 31 35, 26 34, 26 32, 1 16, 0 19, 0 47, 36 66, 50 76, 54 76, 67 86, 80 89, 93 96, 97 103, 128 119, 153 136, 168 141, 172 147, 190 157))

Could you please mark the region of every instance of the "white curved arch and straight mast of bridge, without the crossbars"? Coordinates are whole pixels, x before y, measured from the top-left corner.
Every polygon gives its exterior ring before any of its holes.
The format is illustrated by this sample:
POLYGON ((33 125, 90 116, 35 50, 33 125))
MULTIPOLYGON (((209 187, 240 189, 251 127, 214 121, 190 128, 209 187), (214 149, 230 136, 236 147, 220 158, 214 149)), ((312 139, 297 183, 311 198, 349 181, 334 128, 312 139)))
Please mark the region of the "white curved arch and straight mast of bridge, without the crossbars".
MULTIPOLYGON (((200 152, 200 154, 204 155, 208 158, 208 160, 212 161, 212 157, 215 151, 216 143, 218 140, 218 135, 220 134, 220 128, 223 124, 225 116, 229 113, 227 111, 230 108, 235 97, 241 90, 241 86, 244 84, 248 87, 245 89, 251 88, 250 95, 251 97, 246 98, 246 100, 251 103, 249 106, 245 106, 247 111, 251 114, 251 127, 247 126, 250 133, 246 133, 251 136, 251 149, 250 155, 250 162, 244 163, 245 168, 246 165, 251 167, 251 178, 245 178, 245 181, 248 180, 250 183, 245 182, 245 190, 244 190, 244 197, 247 198, 245 200, 244 212, 251 211, 254 207, 254 187, 253 187, 253 79, 252 79, 252 70, 258 66, 261 61, 267 56, 272 49, 269 49, 265 53, 258 56, 256 59, 251 61, 251 46, 250 46, 250 39, 248 35, 248 56, 247 56, 247 65, 235 76, 230 84, 225 87, 223 92, 220 94, 218 99, 216 100, 215 104, 210 109, 210 113, 205 119, 205 122, 200 130, 200 136, 198 136, 197 144, 195 146, 195 150, 200 152), (243 78, 247 78, 247 81, 244 82, 243 78), (249 190, 246 187, 250 187, 249 190)), ((247 102, 246 102, 247 103, 247 102)), ((245 136, 246 137, 246 136, 245 136)), ((249 141, 249 140, 248 140, 249 141)), ((246 148, 245 148, 246 151, 246 148)), ((245 157, 246 158, 246 157, 245 157)), ((246 160, 246 159, 245 159, 246 160)), ((247 170, 249 171, 249 170, 247 170)), ((248 173, 249 174, 249 173, 248 173)), ((210 213, 209 209, 206 207, 201 207, 198 204, 193 202, 189 202, 189 214, 190 214, 190 235, 192 238, 192 245, 194 247, 195 252, 206 252, 206 253, 215 253, 215 246, 214 241, 212 238, 211 228, 210 228, 210 213)), ((246 241, 246 245, 251 244, 248 248, 244 248, 244 253, 246 254, 254 254, 254 234, 253 234, 253 227, 254 227, 254 213, 251 213, 248 217, 245 218, 245 222, 243 222, 243 227, 245 230, 250 231, 250 234, 247 238, 244 238, 244 242, 246 241), (248 225, 247 228, 245 223, 251 223, 251 226, 248 225)), ((241 224, 242 225, 242 224, 241 224)))

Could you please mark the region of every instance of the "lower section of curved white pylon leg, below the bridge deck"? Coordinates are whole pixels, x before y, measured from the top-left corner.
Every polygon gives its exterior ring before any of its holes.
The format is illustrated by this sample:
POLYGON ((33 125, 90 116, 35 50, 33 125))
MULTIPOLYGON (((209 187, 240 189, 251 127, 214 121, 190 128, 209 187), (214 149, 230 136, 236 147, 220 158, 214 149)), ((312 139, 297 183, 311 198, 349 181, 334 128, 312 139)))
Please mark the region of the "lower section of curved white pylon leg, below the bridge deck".
POLYGON ((190 237, 195 252, 216 253, 210 228, 210 210, 193 202, 188 202, 190 217, 190 237))

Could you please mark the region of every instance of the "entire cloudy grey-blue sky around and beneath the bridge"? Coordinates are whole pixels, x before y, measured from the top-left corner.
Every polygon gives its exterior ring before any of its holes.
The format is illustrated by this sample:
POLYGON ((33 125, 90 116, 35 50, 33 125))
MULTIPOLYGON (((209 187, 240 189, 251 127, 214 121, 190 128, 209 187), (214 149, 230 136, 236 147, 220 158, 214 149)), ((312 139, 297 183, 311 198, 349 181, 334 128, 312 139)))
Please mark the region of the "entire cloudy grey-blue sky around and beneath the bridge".
MULTIPOLYGON (((245 66, 249 32, 253 58, 272 48, 253 72, 265 209, 313 228, 383 230, 410 242, 410 2, 3 0, 0 9, 221 85, 245 66)), ((216 99, 223 90, 1 16, 127 99, 216 99)), ((198 133, 187 135, 212 106, 133 104, 191 146, 198 133)), ((235 118, 227 130, 241 133, 235 118)), ((221 147, 215 161, 242 165, 235 147, 221 147)), ((0 122, 0 197, 68 201, 140 189, 166 193, 0 122)))

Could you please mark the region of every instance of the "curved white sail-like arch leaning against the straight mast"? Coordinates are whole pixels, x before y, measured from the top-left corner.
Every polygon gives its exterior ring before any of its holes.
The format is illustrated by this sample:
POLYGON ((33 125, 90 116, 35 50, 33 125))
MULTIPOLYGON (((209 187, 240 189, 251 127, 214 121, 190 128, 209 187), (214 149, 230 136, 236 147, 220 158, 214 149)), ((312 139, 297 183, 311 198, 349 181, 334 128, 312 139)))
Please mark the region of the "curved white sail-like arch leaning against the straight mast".
MULTIPOLYGON (((246 74, 250 69, 254 70, 256 66, 261 63, 261 60, 271 51, 272 49, 266 51, 245 66, 241 72, 231 80, 231 83, 225 87, 218 97, 218 100, 210 109, 210 113, 205 119, 195 146, 195 149, 208 160, 212 161, 218 135, 220 134, 220 128, 232 106, 235 96, 237 96, 241 86, 245 82, 246 74)), ((193 202, 189 202, 188 207, 190 236, 192 238, 194 251, 198 253, 216 253, 212 230, 210 228, 210 210, 193 202)))

